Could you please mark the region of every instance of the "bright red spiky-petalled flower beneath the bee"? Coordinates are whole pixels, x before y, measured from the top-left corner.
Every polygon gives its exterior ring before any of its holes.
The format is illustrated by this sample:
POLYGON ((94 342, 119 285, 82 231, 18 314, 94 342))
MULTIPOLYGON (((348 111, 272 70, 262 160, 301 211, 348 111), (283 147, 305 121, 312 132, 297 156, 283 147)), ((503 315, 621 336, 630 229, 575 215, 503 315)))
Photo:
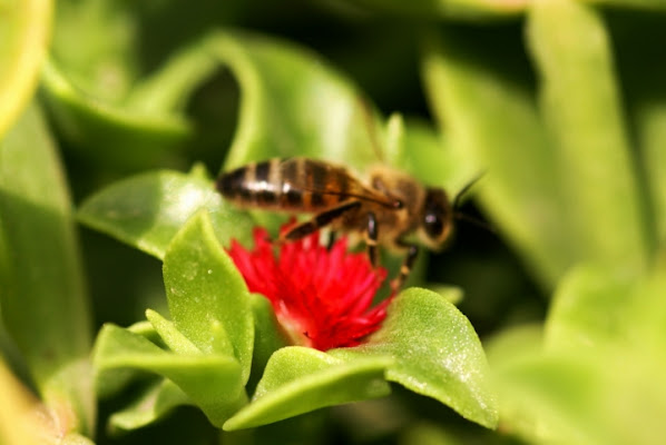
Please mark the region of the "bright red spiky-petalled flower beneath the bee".
POLYGON ((268 233, 254 230, 254 250, 235 240, 228 251, 249 291, 266 296, 292 342, 320 350, 356 346, 381 326, 390 298, 371 308, 386 278, 364 254, 346 250, 346 238, 329 250, 319 233, 280 246, 277 257, 268 233))

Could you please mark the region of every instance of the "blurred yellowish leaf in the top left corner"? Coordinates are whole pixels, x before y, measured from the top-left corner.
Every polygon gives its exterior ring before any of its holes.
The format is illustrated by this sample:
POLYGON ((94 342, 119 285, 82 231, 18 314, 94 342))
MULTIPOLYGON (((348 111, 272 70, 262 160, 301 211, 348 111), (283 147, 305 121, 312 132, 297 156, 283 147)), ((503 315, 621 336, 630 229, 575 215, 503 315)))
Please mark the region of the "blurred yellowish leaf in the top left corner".
POLYGON ((37 87, 52 8, 51 0, 3 1, 0 6, 0 139, 37 87))

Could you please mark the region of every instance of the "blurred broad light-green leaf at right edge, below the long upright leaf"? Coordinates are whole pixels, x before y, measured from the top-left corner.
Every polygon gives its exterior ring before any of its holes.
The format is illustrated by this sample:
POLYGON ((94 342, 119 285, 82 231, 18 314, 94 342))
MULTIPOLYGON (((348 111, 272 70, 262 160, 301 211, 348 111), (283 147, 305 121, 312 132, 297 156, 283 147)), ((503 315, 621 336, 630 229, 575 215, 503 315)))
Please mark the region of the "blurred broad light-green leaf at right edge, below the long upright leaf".
POLYGON ((581 265, 558 288, 546 323, 549 350, 641 350, 665 360, 666 261, 647 274, 581 265))

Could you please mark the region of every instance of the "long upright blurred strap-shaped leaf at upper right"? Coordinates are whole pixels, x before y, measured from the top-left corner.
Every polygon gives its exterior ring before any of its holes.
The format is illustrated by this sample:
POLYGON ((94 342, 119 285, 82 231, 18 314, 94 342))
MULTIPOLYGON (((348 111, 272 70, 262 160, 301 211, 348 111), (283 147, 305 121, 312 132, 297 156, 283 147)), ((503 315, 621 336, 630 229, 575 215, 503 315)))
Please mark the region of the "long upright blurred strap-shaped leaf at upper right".
POLYGON ((533 2, 528 41, 578 258, 645 266, 648 235, 600 12, 572 0, 533 2))

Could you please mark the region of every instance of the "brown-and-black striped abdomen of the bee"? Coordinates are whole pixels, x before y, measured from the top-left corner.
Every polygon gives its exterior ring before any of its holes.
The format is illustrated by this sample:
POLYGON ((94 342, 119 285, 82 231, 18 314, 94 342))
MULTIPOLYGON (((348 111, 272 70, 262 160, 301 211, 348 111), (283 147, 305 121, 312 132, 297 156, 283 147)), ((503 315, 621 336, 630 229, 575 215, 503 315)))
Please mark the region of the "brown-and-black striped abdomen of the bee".
POLYGON ((307 158, 248 164, 222 174, 216 187, 241 206, 295 212, 333 207, 364 189, 343 167, 307 158))

